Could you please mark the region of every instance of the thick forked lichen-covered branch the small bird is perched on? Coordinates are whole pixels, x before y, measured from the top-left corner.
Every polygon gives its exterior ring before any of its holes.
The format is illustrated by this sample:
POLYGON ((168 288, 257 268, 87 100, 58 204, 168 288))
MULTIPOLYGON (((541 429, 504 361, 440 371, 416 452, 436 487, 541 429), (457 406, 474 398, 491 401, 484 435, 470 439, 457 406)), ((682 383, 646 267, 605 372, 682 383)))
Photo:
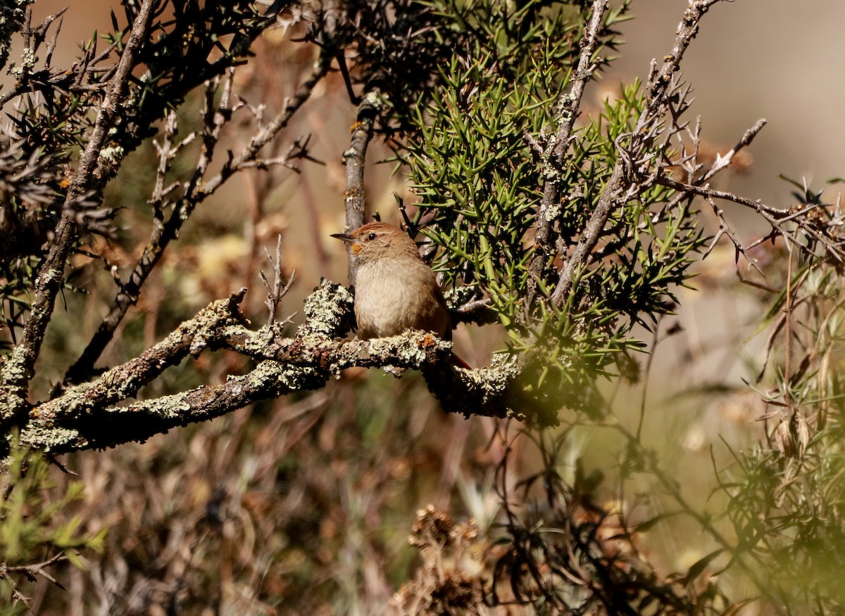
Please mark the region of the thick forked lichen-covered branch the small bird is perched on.
POLYGON ((69 387, 35 404, 21 430, 26 446, 60 453, 146 440, 177 426, 213 419, 259 400, 318 389, 352 367, 423 370, 429 389, 452 412, 504 417, 515 381, 513 362, 482 370, 450 363, 452 345, 426 332, 368 341, 339 338, 348 331, 352 295, 324 281, 305 302, 305 324, 284 337, 279 323, 249 329, 238 305, 245 289, 210 304, 139 358, 95 381, 69 387), (256 361, 245 375, 221 385, 133 401, 140 388, 189 354, 229 349, 256 361), (128 403, 128 404, 127 404, 128 403))

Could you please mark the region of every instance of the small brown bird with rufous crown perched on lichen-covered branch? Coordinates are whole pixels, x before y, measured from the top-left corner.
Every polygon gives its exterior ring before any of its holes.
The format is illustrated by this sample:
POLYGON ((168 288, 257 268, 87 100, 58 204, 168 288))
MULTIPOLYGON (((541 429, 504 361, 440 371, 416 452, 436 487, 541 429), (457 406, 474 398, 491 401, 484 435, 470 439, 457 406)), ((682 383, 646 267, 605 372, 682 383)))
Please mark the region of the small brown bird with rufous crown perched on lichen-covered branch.
MULTIPOLYGON (((351 233, 332 237, 350 246, 357 267, 355 319, 358 337, 384 338, 406 329, 452 339, 452 323, 443 293, 431 268, 420 258, 417 244, 392 224, 368 223, 351 233)), ((468 368, 454 356, 455 365, 468 368)))

